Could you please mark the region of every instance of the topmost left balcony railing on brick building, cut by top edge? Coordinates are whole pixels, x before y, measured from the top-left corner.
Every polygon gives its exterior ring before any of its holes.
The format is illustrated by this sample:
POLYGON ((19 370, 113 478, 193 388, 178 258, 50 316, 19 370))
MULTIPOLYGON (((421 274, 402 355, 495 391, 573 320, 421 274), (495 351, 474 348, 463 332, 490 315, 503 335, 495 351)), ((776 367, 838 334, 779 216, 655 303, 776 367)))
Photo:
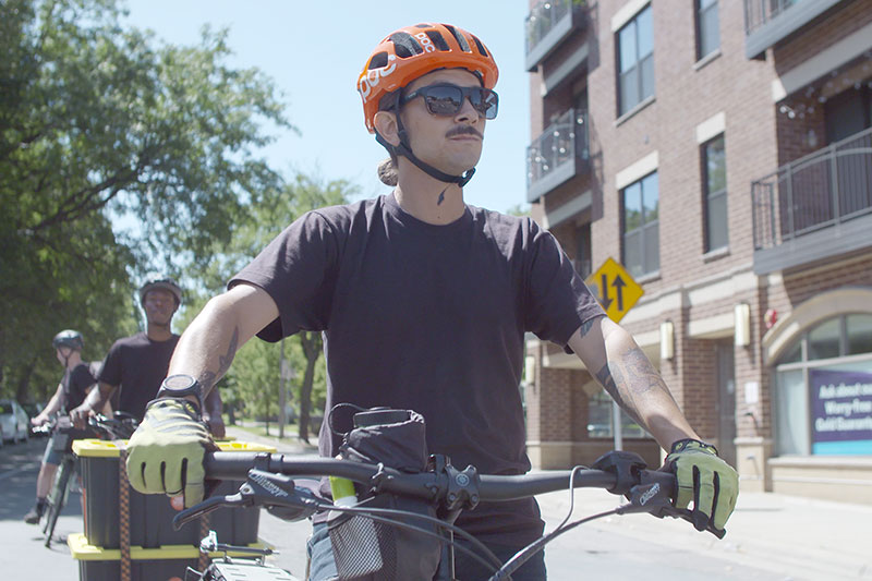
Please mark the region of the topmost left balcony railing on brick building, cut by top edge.
POLYGON ((580 10, 585 4, 586 0, 542 0, 533 7, 524 22, 528 71, 535 70, 581 24, 580 10))

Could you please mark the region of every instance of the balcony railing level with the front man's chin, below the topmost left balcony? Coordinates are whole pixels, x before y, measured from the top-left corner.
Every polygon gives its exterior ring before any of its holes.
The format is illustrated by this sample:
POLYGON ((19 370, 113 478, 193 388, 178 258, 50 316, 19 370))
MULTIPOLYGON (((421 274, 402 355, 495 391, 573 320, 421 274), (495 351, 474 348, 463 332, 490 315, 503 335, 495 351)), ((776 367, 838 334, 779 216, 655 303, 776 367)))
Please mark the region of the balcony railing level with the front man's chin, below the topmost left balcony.
POLYGON ((526 148, 528 199, 574 177, 577 162, 588 158, 588 112, 569 109, 526 148))

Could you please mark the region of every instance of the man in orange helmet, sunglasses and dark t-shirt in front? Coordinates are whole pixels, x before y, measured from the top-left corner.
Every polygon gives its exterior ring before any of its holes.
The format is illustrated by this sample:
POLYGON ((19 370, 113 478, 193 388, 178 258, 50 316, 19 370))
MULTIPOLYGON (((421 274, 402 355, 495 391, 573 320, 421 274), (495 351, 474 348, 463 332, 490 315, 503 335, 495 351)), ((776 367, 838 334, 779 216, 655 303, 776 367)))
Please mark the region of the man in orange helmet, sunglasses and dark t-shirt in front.
MULTIPOLYGON (((190 406, 223 375, 253 336, 278 341, 324 334, 327 403, 412 409, 424 415, 431 453, 484 474, 522 474, 519 384, 524 335, 574 352, 609 394, 666 449, 694 524, 722 529, 736 501, 736 472, 699 441, 632 337, 605 317, 557 240, 529 218, 464 202, 497 117, 498 70, 475 35, 422 23, 385 37, 358 77, 367 130, 388 152, 385 195, 310 211, 213 298, 182 336, 162 395, 130 443, 128 472, 144 493, 204 492, 205 434, 190 406), (180 389, 180 387, 182 389, 180 389), (166 470, 164 468, 166 467, 166 470), (694 477, 694 474, 697 475, 694 477)), ((340 437, 324 422, 322 456, 340 437)), ((507 559, 538 538, 533 499, 481 503, 456 522, 507 559)), ((330 538, 315 519, 310 579, 335 578, 330 538)), ((458 553, 463 579, 489 573, 458 553)), ((545 578, 540 553, 512 573, 545 578)))

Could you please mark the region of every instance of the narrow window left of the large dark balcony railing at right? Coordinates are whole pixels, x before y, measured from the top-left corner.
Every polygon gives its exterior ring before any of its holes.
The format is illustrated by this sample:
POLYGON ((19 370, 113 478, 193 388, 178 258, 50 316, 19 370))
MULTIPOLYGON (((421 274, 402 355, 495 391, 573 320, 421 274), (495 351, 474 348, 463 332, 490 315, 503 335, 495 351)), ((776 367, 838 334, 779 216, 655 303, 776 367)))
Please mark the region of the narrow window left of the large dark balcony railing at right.
POLYGON ((702 145, 704 251, 726 247, 727 230, 727 157, 724 135, 702 145))

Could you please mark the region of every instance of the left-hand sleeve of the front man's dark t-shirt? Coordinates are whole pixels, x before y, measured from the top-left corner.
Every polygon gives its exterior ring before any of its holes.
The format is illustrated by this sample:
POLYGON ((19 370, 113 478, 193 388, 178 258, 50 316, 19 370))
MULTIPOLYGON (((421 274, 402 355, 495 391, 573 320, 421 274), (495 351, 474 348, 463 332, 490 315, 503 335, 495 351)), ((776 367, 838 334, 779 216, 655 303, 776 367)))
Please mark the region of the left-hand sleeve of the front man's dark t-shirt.
POLYGON ((228 288, 249 282, 276 302, 279 318, 257 336, 278 341, 300 330, 324 330, 330 313, 339 243, 324 216, 310 211, 276 237, 228 288))

